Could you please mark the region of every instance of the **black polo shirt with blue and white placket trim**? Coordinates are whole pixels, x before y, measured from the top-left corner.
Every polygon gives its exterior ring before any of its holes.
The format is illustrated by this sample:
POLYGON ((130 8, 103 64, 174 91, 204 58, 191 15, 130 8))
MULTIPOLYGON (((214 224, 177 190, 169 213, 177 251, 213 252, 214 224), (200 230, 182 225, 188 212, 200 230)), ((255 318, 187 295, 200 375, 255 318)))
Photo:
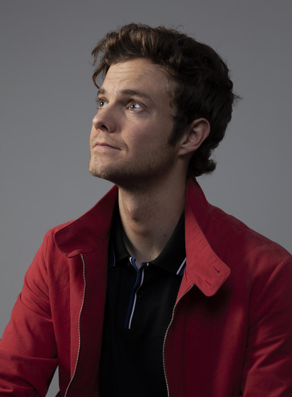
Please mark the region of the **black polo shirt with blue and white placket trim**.
POLYGON ((100 397, 167 396, 163 343, 185 270, 181 215, 160 255, 138 269, 116 211, 109 243, 100 397))

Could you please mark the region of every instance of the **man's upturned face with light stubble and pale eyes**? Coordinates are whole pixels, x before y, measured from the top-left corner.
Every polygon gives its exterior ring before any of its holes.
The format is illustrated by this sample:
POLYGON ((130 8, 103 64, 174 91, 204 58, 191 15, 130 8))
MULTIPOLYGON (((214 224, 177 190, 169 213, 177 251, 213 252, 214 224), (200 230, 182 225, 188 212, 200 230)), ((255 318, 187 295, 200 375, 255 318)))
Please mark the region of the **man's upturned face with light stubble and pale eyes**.
POLYGON ((147 184, 175 166, 167 75, 144 59, 109 67, 98 91, 88 169, 117 185, 147 184))

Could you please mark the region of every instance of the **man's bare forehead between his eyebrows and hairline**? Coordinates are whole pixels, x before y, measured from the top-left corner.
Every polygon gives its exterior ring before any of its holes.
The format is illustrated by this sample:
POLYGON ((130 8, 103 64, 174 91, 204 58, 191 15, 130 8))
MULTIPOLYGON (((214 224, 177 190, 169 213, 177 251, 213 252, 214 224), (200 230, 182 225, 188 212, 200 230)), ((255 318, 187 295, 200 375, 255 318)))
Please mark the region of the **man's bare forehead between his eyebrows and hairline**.
POLYGON ((169 102, 168 75, 162 66, 145 59, 134 59, 111 65, 102 84, 106 91, 132 89, 144 91, 169 102))

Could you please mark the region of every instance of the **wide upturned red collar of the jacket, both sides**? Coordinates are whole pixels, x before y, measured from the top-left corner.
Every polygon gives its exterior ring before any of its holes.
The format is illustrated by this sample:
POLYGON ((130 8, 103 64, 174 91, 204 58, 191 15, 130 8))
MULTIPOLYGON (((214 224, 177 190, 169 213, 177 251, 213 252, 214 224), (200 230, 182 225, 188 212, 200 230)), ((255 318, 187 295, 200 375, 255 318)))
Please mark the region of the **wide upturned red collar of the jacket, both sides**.
MULTIPOLYGON (((118 188, 114 186, 88 212, 56 231, 54 240, 64 256, 71 258, 93 252, 107 243, 117 194, 118 188)), ((191 283, 207 296, 214 295, 230 274, 230 268, 215 254, 205 237, 210 218, 210 204, 196 179, 189 177, 185 200, 185 272, 191 283)))

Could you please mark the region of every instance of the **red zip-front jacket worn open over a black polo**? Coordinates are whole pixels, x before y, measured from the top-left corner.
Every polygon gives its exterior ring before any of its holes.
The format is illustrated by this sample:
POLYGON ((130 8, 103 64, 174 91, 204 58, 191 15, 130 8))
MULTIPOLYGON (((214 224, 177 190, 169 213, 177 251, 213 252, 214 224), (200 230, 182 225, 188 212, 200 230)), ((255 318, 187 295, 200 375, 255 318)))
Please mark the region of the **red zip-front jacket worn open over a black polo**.
MULTIPOLYGON (((117 187, 45 235, 0 342, 0 396, 97 395, 117 187), (67 392, 66 392, 67 390, 67 392)), ((187 265, 161 352, 171 397, 292 396, 292 257, 189 179, 187 265)))

